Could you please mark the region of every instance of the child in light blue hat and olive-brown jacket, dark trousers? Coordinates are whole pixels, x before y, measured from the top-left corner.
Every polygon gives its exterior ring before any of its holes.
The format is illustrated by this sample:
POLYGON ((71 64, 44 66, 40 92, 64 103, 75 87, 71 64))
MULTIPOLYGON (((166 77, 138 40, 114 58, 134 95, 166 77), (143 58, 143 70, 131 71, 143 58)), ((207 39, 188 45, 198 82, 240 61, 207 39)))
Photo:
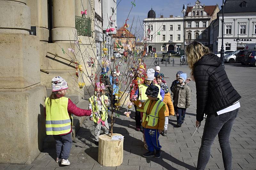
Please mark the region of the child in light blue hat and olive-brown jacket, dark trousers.
POLYGON ((186 109, 191 103, 191 89, 186 83, 186 73, 180 74, 178 79, 179 83, 174 85, 171 96, 177 117, 177 127, 181 127, 185 120, 186 109))

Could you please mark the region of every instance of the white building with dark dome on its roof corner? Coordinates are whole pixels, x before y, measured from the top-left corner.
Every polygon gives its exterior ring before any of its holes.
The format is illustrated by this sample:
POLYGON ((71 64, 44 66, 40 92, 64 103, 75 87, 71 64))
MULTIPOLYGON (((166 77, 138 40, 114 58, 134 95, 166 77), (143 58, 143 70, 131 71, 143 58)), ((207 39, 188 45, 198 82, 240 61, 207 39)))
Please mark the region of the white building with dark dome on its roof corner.
POLYGON ((156 18, 154 10, 148 12, 148 18, 143 20, 144 37, 150 29, 148 52, 180 51, 183 48, 183 17, 156 18), (159 35, 160 34, 160 35, 159 35))

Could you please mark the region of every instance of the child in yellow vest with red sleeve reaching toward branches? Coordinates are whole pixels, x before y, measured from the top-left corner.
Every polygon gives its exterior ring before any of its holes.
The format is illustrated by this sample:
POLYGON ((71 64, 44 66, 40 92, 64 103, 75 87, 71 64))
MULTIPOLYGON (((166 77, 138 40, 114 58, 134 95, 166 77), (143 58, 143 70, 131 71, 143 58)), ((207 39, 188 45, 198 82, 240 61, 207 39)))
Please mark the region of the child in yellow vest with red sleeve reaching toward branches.
POLYGON ((45 100, 46 134, 52 135, 56 142, 56 162, 70 165, 68 156, 72 146, 73 115, 90 116, 92 110, 76 105, 66 95, 68 84, 60 76, 52 78, 52 94, 45 100))

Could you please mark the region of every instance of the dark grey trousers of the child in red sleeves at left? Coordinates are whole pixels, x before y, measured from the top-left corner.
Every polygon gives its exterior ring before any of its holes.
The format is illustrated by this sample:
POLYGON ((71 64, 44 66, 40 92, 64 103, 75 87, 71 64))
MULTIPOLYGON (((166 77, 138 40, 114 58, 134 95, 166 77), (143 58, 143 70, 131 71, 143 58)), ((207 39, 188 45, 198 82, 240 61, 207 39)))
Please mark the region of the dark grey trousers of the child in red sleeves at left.
POLYGON ((71 146, 72 137, 71 133, 67 135, 52 135, 56 142, 56 156, 61 159, 68 159, 71 146))

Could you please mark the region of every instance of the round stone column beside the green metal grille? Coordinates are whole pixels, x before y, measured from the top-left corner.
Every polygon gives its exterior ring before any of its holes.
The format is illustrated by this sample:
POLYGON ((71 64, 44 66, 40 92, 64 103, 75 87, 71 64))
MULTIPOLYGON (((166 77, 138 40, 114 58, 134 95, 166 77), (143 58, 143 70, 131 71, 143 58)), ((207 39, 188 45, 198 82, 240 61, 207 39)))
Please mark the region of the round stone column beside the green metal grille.
POLYGON ((75 27, 75 1, 53 0, 52 42, 74 42, 75 27))

